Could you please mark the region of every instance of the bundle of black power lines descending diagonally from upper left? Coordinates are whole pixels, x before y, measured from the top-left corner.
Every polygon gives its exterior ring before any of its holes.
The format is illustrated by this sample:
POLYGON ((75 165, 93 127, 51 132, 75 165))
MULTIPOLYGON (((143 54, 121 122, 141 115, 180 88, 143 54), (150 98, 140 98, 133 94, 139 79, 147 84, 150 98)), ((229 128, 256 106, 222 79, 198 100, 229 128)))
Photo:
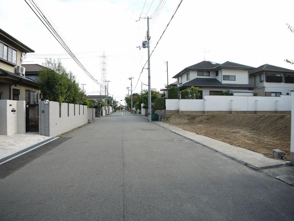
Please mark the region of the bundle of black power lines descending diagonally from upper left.
POLYGON ((74 59, 74 61, 83 69, 83 71, 98 85, 101 85, 87 70, 86 68, 81 64, 81 62, 76 58, 74 53, 70 50, 70 48, 66 45, 64 40, 60 37, 58 32, 54 29, 54 27, 51 25, 51 23, 48 21, 44 13, 41 11, 41 9, 36 5, 36 3, 33 0, 29 0, 31 4, 27 0, 24 0, 26 4, 32 9, 32 11, 36 14, 36 16, 40 19, 40 21, 45 25, 45 27, 49 30, 49 32, 53 35, 53 37, 59 42, 59 44, 68 52, 68 54, 74 59), (33 7, 34 9, 33 9, 33 7), (45 24, 46 23, 46 24, 45 24))

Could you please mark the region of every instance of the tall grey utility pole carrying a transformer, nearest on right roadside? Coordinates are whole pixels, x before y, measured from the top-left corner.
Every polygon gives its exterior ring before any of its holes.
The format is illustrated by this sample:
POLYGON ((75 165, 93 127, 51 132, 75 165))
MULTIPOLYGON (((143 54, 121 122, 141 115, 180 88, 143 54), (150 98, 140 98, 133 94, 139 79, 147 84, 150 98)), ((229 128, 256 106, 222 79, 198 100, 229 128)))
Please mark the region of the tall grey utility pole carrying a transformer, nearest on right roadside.
MULTIPOLYGON (((139 18, 139 20, 141 17, 139 18)), ((146 19, 142 18, 142 19, 146 19)), ((150 77, 150 30, 149 30, 149 17, 147 17, 147 41, 142 42, 142 47, 143 48, 148 48, 148 121, 151 122, 151 77, 150 77), (147 45, 146 45, 147 44, 147 45)), ((137 21, 139 21, 137 20, 137 21)), ((136 21, 136 22, 137 22, 136 21)), ((141 49, 141 47, 138 47, 141 49)))

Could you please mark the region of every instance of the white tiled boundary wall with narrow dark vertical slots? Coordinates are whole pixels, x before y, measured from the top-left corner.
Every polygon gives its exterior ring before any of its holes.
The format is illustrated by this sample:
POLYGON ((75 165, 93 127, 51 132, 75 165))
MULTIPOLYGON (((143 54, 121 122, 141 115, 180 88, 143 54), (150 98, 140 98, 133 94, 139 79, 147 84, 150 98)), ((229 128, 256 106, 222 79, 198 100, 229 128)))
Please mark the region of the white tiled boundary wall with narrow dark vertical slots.
POLYGON ((57 136, 93 120, 95 120, 94 108, 79 104, 60 104, 54 101, 39 102, 40 135, 57 136))

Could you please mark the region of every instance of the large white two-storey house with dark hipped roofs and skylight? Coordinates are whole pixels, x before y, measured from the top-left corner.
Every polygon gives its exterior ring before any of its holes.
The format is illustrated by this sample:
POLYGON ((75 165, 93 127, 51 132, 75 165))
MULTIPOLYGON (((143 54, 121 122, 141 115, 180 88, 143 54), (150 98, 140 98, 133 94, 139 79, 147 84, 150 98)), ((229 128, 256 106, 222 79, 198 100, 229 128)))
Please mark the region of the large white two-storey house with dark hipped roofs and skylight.
POLYGON ((234 62, 222 64, 202 61, 195 65, 184 68, 173 76, 177 78, 177 86, 180 90, 198 87, 200 97, 213 95, 226 90, 251 90, 248 71, 253 67, 234 62))

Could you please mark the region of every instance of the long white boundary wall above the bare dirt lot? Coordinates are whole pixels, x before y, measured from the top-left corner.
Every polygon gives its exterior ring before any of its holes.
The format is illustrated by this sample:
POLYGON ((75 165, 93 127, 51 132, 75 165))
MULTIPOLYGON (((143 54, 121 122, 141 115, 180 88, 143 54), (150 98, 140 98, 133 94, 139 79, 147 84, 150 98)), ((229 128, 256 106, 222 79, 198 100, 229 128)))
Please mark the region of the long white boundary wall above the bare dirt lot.
POLYGON ((291 96, 215 96, 203 100, 166 99, 166 110, 179 111, 290 111, 291 96))

